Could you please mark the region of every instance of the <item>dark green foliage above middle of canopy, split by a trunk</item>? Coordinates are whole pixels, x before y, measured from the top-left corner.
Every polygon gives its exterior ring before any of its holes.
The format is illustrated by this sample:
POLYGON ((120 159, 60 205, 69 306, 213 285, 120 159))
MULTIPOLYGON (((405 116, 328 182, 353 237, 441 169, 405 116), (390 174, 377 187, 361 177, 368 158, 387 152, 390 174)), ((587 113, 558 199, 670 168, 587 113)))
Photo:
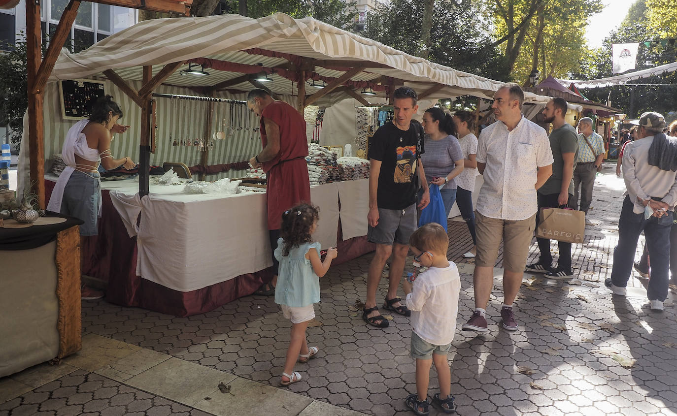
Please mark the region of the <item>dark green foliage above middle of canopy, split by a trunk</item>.
MULTIPOLYGON (((431 20, 427 59, 438 64, 487 78, 506 80, 508 71, 498 47, 486 28, 481 3, 437 0, 431 20)), ((421 47, 425 3, 420 0, 391 0, 379 3, 368 14, 362 34, 410 55, 421 47)))

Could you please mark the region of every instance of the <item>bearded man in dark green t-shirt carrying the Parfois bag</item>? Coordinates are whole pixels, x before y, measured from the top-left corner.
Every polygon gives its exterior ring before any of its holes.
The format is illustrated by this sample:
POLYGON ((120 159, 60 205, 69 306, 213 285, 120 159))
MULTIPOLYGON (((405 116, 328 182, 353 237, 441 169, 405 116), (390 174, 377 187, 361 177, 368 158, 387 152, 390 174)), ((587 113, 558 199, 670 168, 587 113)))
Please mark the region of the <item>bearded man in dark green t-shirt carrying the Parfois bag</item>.
MULTIPOLYGON (((571 124, 565 122, 567 114, 567 101, 561 97, 555 97, 548 101, 543 110, 545 121, 552 123, 550 132, 550 150, 552 150, 552 176, 538 189, 538 210, 541 208, 558 208, 569 206, 569 200, 573 196, 573 170, 575 169, 576 152, 578 149, 578 137, 576 130, 571 124)), ((539 218, 536 216, 536 227, 539 218)), ((557 267, 552 267, 552 254, 550 253, 550 239, 537 238, 541 256, 538 262, 529 264, 527 271, 533 273, 545 273, 550 279, 569 279, 573 277, 571 271, 571 243, 559 241, 559 261, 557 267)))

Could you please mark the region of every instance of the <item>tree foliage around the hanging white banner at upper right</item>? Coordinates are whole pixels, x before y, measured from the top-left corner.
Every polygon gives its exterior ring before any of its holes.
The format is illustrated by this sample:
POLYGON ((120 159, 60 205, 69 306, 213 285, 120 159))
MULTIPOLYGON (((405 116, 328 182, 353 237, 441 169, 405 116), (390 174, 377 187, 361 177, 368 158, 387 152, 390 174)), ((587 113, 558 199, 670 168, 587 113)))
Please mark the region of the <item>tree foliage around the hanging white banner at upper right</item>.
MULTIPOLYGON (((581 61, 580 72, 573 73, 577 79, 598 79, 613 76, 611 68, 612 43, 639 43, 636 70, 644 70, 655 66, 669 64, 675 61, 677 48, 669 43, 663 45, 651 43, 649 47, 645 41, 659 39, 659 28, 652 26, 642 13, 644 0, 639 0, 628 12, 626 20, 609 34, 604 46, 592 49, 584 55, 581 61), (646 62, 649 62, 647 64, 646 62)), ((647 0, 647 11, 650 9, 650 0, 647 0)), ((677 85, 657 85, 677 83, 677 72, 655 75, 650 78, 630 81, 640 85, 613 85, 611 87, 586 89, 582 91, 593 101, 605 102, 611 93, 611 105, 624 110, 630 118, 637 118, 642 112, 657 111, 674 119, 676 110, 677 85), (634 93, 633 93, 634 91, 634 93), (632 100, 631 100, 632 99, 632 100)))

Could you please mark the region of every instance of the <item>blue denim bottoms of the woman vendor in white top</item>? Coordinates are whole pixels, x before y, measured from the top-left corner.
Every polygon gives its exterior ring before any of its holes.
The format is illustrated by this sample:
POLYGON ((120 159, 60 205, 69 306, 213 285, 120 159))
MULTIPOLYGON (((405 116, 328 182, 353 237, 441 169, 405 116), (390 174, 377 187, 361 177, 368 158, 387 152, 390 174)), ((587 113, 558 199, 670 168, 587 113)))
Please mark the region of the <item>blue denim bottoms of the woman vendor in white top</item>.
POLYGON ((80 235, 97 235, 99 216, 99 173, 87 175, 76 170, 70 175, 64 188, 61 213, 85 221, 80 226, 80 235))

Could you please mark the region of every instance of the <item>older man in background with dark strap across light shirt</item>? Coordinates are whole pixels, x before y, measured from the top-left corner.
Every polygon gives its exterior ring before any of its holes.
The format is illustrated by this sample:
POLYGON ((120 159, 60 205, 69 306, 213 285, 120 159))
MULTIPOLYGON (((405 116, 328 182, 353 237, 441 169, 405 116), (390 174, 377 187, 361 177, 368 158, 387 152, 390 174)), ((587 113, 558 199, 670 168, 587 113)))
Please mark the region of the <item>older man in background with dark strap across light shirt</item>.
MULTIPOLYGON (((580 210, 588 215, 588 208, 592 202, 592 187, 594 186, 594 177, 602 166, 604 160, 604 141, 602 136, 595 133, 592 129, 592 118, 584 117, 578 120, 578 158, 576 168, 573 170, 573 206, 578 209, 578 188, 581 192, 580 210)), ((586 224, 590 221, 586 218, 586 224)))

